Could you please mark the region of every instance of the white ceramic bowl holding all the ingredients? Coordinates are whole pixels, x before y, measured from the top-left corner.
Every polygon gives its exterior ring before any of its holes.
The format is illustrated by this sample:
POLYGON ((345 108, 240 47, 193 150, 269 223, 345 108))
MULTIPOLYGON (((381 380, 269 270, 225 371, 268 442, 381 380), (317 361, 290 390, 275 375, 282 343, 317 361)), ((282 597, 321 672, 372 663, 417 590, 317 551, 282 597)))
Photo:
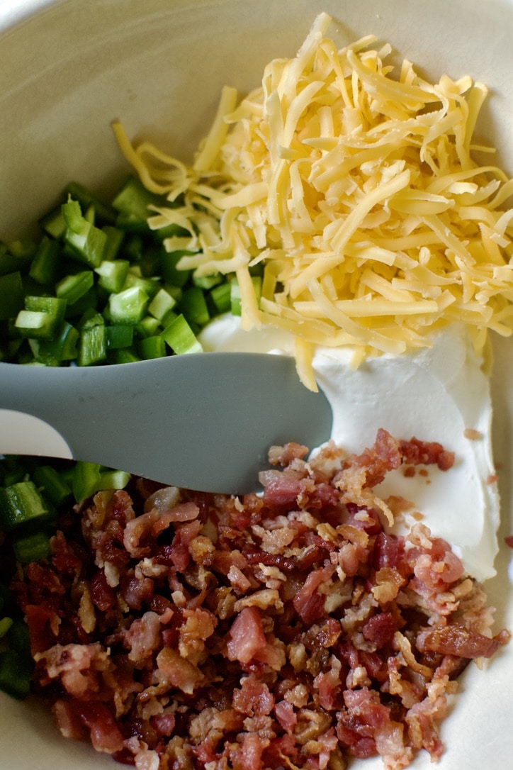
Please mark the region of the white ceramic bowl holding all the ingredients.
MULTIPOLYGON (((122 119, 190 159, 225 83, 258 85, 269 59, 293 55, 315 15, 341 44, 369 32, 437 78, 471 75, 491 91, 478 133, 513 173, 513 2, 508 0, 2 0, 0 238, 20 236, 71 179, 112 192, 127 172, 109 127, 122 119)), ((503 523, 513 532, 513 343, 498 340, 495 454, 503 523)), ((498 625, 513 628, 509 554, 486 586, 498 625)), ((511 767, 513 644, 488 671, 471 665, 442 730, 440 770, 511 767)), ((355 762, 375 770, 378 760, 355 762)), ((428 768, 428 757, 413 765, 428 768)), ((100 770, 112 760, 65 741, 33 702, 0 694, 0 770, 100 770)), ((255 768, 256 770, 256 768, 255 768)))

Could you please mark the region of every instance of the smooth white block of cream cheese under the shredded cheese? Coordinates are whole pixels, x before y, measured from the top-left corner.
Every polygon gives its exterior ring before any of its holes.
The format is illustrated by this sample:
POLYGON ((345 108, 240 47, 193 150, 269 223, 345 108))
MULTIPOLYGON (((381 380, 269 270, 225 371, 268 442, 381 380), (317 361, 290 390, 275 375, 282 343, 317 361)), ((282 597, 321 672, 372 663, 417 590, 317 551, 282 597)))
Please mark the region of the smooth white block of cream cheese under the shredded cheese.
MULTIPOLYGON (((293 354, 286 333, 264 327, 244 331, 238 318, 213 321, 201 335, 205 350, 293 354)), ((420 511, 438 537, 451 543, 468 574, 480 581, 495 575, 499 498, 491 450, 488 377, 460 324, 438 333, 431 348, 408 356, 365 360, 349 366, 350 350, 321 347, 314 369, 333 410, 331 437, 349 451, 371 446, 383 427, 397 438, 438 441, 455 453, 448 471, 428 468, 406 477, 388 474, 378 487, 385 499, 401 496, 414 504, 398 527, 420 511)))

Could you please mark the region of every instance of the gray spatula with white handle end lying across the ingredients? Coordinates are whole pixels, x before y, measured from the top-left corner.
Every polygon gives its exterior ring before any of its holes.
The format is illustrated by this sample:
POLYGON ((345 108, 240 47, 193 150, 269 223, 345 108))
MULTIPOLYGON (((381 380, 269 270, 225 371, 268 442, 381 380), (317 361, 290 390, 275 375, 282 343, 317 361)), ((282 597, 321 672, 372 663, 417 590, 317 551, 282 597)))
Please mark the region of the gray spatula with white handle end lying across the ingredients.
POLYGON ((258 488, 271 444, 327 440, 294 360, 192 353, 102 367, 0 363, 0 453, 88 460, 190 489, 258 488))

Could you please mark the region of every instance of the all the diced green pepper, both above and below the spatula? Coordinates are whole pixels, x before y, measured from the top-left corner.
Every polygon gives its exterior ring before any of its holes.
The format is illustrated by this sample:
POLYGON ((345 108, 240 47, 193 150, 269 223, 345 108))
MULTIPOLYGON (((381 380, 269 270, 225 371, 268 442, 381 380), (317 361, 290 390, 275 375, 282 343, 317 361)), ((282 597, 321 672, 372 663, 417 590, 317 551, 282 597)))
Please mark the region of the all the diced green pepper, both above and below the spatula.
MULTIPOLYGON (((135 176, 112 203, 72 182, 39 220, 38 239, 0 243, 0 361, 102 366, 195 353, 213 317, 240 315, 235 276, 178 269, 187 252, 168 252, 165 239, 182 233, 150 229, 148 206, 169 203, 135 176)), ((128 480, 92 463, 0 461, 0 689, 10 695, 27 695, 31 668, 27 629, 8 590, 12 569, 48 556, 59 507, 128 480)))

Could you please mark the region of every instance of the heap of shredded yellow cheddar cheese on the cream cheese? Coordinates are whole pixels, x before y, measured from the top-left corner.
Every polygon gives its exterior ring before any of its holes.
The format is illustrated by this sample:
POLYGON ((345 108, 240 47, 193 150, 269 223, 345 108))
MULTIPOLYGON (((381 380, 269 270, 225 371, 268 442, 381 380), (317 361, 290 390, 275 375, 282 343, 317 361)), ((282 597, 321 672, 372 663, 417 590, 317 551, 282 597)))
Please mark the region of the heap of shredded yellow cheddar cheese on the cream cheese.
POLYGON ((235 273, 243 326, 293 333, 313 389, 317 345, 401 354, 458 320, 481 351, 488 330, 513 328, 513 211, 501 209, 513 181, 471 156, 485 86, 430 83, 408 61, 394 78, 389 46, 338 50, 330 22, 319 15, 241 101, 223 90, 190 167, 114 124, 142 182, 173 204, 148 221, 182 228, 165 241, 189 252, 179 266, 235 273))

